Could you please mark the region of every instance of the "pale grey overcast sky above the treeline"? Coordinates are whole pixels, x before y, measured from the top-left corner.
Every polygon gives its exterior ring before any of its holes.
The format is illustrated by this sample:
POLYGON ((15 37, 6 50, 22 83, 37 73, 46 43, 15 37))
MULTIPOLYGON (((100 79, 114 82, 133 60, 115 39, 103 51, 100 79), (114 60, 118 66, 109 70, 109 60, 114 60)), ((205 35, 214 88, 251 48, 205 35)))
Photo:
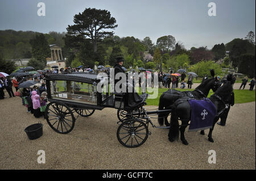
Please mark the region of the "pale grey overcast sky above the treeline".
POLYGON ((110 11, 117 20, 114 33, 156 40, 172 35, 184 47, 205 47, 255 33, 255 0, 0 0, 0 30, 66 32, 73 16, 86 8, 110 11), (39 2, 46 16, 38 16, 39 2), (216 3, 216 16, 208 4, 216 3))

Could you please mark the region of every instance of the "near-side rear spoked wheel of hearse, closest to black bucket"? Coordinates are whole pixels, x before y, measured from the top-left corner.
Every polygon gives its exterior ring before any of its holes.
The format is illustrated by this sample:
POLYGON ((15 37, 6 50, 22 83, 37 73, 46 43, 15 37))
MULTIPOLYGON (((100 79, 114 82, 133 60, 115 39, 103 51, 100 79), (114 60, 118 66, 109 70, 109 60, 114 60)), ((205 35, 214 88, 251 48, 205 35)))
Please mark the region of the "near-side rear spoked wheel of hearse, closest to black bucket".
POLYGON ((75 116, 71 109, 61 102, 51 102, 46 107, 46 120, 57 133, 67 134, 75 126, 75 116))

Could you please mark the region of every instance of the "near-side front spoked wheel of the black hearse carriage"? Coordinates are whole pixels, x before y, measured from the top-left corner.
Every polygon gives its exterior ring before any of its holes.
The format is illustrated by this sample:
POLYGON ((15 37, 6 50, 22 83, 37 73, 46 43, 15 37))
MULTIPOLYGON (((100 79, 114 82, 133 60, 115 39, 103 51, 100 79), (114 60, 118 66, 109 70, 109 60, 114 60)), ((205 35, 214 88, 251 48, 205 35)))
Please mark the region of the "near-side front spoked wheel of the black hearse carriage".
POLYGON ((144 144, 148 137, 146 124, 139 119, 123 121, 117 129, 118 141, 128 148, 136 148, 144 144))

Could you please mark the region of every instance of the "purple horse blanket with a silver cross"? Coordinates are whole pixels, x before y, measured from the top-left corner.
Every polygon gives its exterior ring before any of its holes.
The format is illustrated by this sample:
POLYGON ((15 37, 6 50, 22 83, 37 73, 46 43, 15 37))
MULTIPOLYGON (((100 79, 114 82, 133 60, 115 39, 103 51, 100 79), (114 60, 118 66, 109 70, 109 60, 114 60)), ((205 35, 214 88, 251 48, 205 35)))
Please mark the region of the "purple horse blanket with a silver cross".
POLYGON ((191 106, 191 121, 188 128, 189 132, 212 128, 216 107, 209 99, 188 100, 191 106))

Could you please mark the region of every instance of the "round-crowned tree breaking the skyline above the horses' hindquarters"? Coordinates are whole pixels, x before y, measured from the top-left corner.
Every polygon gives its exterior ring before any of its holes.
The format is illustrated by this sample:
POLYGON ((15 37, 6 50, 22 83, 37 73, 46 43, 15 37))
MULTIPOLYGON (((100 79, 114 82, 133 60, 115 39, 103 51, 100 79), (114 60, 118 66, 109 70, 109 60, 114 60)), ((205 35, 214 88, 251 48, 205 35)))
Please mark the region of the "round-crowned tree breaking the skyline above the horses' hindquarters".
POLYGON ((176 43, 175 37, 171 35, 162 36, 162 37, 159 37, 158 40, 156 40, 156 45, 163 52, 168 52, 168 50, 174 48, 175 43, 176 43))

